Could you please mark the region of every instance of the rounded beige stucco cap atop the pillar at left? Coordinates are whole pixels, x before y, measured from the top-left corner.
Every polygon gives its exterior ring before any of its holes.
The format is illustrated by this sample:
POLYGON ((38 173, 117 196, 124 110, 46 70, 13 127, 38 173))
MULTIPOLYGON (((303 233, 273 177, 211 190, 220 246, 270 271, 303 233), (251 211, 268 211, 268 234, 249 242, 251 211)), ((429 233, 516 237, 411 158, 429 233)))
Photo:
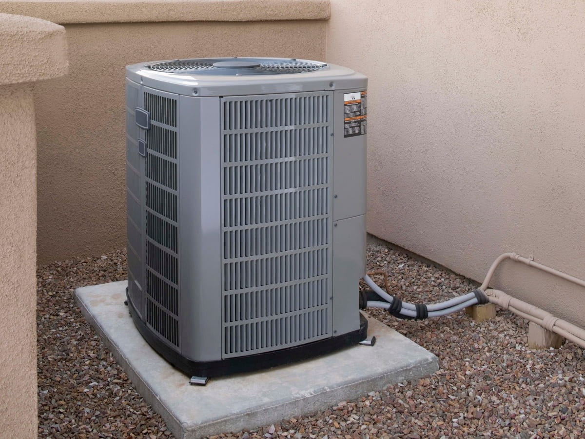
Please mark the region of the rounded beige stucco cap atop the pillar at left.
POLYGON ((63 26, 0 13, 0 85, 56 78, 67 71, 63 26))

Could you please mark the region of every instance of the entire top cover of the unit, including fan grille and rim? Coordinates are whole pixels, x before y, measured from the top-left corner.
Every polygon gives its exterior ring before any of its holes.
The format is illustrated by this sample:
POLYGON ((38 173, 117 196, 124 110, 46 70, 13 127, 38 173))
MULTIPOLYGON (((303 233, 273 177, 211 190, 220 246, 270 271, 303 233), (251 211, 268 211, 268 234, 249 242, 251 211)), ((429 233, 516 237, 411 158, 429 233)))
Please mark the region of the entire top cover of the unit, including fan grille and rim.
POLYGON ((136 83, 191 96, 229 96, 365 88, 362 74, 291 58, 195 58, 126 67, 136 83))

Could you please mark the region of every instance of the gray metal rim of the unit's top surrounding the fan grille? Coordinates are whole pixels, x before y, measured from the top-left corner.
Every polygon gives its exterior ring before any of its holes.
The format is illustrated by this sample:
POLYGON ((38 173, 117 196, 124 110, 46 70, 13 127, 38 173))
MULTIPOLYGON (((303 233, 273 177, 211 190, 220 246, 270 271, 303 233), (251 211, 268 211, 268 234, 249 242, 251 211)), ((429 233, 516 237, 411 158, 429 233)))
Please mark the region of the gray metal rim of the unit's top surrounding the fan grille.
POLYGON ((261 76, 205 76, 197 73, 166 73, 133 64, 126 76, 147 87, 187 96, 238 96, 363 88, 367 78, 347 67, 328 64, 317 71, 261 76))

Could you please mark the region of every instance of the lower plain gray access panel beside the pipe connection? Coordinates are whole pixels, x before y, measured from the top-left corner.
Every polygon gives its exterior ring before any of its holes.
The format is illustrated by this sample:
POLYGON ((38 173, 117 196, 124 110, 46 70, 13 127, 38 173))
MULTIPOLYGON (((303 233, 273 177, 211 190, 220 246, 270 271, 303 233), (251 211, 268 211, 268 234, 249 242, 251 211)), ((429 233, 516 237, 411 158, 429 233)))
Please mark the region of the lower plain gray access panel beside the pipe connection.
POLYGON ((360 326, 357 283, 366 274, 366 215, 333 224, 333 331, 339 335, 360 326))

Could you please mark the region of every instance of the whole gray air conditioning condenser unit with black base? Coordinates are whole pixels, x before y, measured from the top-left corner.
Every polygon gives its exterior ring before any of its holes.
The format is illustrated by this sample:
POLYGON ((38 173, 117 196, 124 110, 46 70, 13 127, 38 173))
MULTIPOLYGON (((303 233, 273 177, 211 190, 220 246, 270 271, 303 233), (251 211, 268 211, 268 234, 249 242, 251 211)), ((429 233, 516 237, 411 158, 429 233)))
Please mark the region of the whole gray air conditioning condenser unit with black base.
POLYGON ((278 58, 126 68, 128 303, 211 377, 366 338, 367 78, 278 58))

